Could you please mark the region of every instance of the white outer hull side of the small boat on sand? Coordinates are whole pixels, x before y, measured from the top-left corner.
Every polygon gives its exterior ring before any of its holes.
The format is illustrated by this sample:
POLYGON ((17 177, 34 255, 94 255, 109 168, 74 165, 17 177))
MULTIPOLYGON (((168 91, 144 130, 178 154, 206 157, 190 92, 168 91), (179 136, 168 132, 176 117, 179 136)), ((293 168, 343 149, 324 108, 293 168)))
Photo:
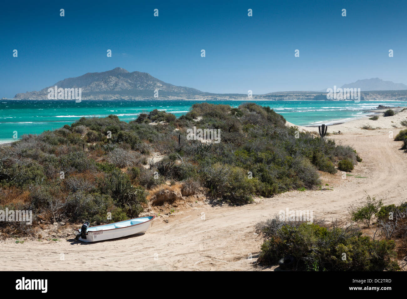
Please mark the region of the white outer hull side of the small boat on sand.
MULTIPOLYGON (((117 238, 132 236, 132 235, 144 234, 147 231, 147 229, 149 229, 150 224, 152 223, 151 220, 153 220, 154 218, 155 218, 155 216, 146 222, 127 226, 127 227, 120 227, 120 228, 107 229, 107 230, 98 230, 98 231, 87 231, 86 239, 83 239, 82 237, 80 237, 79 240, 82 242, 97 242, 97 241, 117 239, 117 238)), ((135 219, 137 219, 137 218, 135 218, 135 219)), ((92 227, 90 227, 90 229, 91 228, 92 227)), ((80 231, 75 230, 75 235, 78 235, 78 234, 80 234, 80 231)))

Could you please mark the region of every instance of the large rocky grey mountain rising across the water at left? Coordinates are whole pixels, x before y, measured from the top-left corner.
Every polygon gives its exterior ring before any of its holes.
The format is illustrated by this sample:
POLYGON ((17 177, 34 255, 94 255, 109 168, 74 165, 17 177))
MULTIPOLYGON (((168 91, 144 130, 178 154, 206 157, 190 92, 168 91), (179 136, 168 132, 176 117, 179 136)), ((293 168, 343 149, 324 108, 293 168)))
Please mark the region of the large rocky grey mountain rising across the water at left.
POLYGON ((158 95, 173 97, 191 97, 204 94, 198 89, 175 86, 154 78, 148 73, 129 72, 124 68, 114 68, 107 72, 87 73, 79 77, 58 81, 52 86, 40 91, 19 93, 14 96, 18 99, 46 99, 48 88, 82 88, 82 98, 154 98, 154 90, 158 95))

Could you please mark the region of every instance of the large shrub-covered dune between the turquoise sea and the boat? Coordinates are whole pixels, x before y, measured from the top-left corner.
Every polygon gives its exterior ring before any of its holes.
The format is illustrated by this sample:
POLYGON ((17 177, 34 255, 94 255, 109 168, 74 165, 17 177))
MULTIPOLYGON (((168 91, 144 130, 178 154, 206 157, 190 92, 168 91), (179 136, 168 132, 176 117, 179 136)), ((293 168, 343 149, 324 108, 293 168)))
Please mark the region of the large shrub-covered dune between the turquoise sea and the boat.
POLYGON ((155 109, 128 123, 115 115, 81 118, 23 135, 0 148, 0 209, 33 210, 35 223, 120 221, 137 217, 149 192, 166 182, 204 190, 213 203, 241 205, 318 188, 318 170, 335 173, 338 161, 353 167, 360 159, 350 146, 285 122, 254 103, 201 103, 178 119, 155 109), (188 139, 194 127, 220 129, 220 142, 188 139))

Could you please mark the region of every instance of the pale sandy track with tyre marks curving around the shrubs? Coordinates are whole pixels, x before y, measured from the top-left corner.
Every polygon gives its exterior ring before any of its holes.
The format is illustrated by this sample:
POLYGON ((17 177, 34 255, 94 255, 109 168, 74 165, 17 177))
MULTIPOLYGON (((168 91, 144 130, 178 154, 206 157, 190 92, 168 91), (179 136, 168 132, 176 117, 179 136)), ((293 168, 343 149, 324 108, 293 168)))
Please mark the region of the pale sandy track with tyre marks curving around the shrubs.
POLYGON ((272 270, 253 264, 262 243, 254 227, 280 210, 313 210, 314 217, 346 223, 348 207, 363 201, 366 193, 386 196, 385 204, 406 200, 407 153, 399 149, 402 142, 389 137, 405 129, 401 120, 407 120, 407 111, 329 126, 328 138, 353 146, 363 162, 346 179, 340 171, 321 172, 322 186, 329 186, 325 190, 291 191, 239 207, 202 203, 177 210, 168 223, 156 218, 142 236, 117 240, 78 243, 73 234, 57 242, 1 240, 0 270, 272 270), (377 129, 361 129, 366 124, 377 129))

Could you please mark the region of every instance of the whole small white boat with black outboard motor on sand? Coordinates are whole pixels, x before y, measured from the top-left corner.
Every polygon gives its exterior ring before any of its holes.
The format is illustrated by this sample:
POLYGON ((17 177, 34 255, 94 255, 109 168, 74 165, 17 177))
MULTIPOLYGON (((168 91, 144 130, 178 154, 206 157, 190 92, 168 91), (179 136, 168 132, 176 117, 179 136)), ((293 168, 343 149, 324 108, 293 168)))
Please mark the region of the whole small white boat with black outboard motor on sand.
POLYGON ((81 229, 74 229, 74 231, 76 236, 79 235, 78 240, 82 242, 110 240, 143 234, 150 227, 151 220, 154 218, 155 216, 139 217, 115 223, 91 226, 85 230, 85 234, 81 234, 84 226, 82 226, 81 229))

